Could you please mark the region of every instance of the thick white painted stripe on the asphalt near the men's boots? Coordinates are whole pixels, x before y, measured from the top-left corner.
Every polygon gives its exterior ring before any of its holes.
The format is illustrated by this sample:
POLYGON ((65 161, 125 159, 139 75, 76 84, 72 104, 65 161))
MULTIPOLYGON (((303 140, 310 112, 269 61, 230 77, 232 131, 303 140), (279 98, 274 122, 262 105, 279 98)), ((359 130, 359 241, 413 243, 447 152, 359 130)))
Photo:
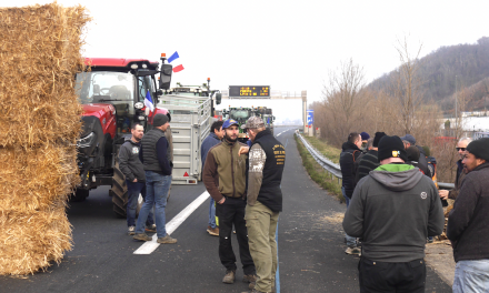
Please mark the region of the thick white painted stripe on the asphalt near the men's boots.
MULTIPOLYGON (((189 215, 191 215, 197 208, 209 199, 209 192, 203 192, 199 195, 199 198, 193 200, 189 205, 187 205, 187 208, 171 219, 171 221, 167 223, 167 234, 170 235, 173 233, 173 231, 177 230, 177 228, 183 223, 183 221, 187 220, 187 218, 189 218, 189 215)), ((160 243, 157 242, 157 233, 154 233, 152 240, 144 242, 138 250, 134 251, 133 254, 151 254, 151 252, 153 252, 160 245, 160 243)))

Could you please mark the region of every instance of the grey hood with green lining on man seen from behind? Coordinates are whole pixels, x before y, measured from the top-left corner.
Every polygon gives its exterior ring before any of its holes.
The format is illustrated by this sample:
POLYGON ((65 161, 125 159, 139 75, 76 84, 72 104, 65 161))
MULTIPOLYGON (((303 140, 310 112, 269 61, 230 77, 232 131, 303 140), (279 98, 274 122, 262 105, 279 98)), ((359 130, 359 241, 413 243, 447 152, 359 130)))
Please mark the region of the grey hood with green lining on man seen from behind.
POLYGON ((370 172, 370 176, 391 191, 412 189, 423 174, 408 164, 383 164, 370 172))

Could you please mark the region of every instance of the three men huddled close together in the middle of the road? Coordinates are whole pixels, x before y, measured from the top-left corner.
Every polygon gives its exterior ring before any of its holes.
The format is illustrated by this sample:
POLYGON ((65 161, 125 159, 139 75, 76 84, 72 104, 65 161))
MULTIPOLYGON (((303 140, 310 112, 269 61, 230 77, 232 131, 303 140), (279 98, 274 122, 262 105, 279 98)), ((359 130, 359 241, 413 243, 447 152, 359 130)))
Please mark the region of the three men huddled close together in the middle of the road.
POLYGON ((232 119, 214 122, 213 133, 202 143, 202 181, 211 196, 208 232, 219 235, 219 259, 226 267, 223 283, 232 284, 236 279, 237 260, 231 245, 234 226, 242 281, 250 283, 252 292, 273 292, 275 234, 282 211, 280 183, 286 150, 261 118, 252 117, 241 128, 251 146, 238 141, 239 123, 232 119), (214 214, 219 228, 214 226, 214 214))

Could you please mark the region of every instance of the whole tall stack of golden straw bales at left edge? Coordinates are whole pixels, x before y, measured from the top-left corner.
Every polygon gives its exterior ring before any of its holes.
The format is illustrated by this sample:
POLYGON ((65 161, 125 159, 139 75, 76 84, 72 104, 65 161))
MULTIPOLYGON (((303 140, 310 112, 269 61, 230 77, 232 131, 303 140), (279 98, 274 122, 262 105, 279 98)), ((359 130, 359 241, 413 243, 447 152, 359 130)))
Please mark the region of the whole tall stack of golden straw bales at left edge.
POLYGON ((0 8, 0 274, 32 274, 71 250, 79 183, 83 7, 0 8))

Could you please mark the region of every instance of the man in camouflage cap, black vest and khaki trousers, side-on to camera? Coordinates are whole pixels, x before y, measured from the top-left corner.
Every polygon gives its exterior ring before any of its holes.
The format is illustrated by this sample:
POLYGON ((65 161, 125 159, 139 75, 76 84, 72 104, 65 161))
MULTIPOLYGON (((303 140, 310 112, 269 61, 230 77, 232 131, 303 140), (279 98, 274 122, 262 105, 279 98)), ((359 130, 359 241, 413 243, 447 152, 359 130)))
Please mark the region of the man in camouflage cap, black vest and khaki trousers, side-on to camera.
POLYGON ((282 211, 282 180, 286 149, 266 128, 263 120, 251 117, 241 125, 252 142, 249 151, 248 204, 246 220, 251 256, 258 279, 252 292, 271 292, 277 272, 276 230, 282 211))

